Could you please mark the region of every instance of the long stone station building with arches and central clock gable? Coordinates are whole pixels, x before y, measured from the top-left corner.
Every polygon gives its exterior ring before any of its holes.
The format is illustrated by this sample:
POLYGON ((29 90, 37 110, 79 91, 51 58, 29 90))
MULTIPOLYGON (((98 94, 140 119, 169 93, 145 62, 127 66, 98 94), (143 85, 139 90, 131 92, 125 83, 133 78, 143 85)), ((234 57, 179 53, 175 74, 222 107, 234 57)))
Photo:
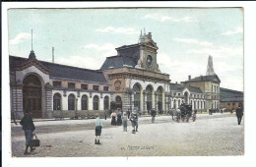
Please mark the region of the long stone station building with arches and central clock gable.
POLYGON ((210 75, 170 83, 160 72, 158 50, 149 32, 136 44, 116 48, 117 55, 99 70, 39 61, 33 51, 29 58, 9 56, 11 112, 21 119, 25 110, 33 118, 72 118, 117 108, 167 113, 181 103, 200 111, 220 108, 221 81, 212 74, 213 61, 210 75))

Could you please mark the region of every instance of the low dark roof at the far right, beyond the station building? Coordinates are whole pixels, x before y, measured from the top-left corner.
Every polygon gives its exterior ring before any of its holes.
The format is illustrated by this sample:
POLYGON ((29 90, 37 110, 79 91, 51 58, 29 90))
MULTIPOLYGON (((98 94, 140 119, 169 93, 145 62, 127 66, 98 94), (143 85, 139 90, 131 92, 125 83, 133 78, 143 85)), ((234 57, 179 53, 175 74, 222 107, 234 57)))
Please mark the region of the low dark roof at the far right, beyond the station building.
POLYGON ((243 92, 220 87, 221 102, 243 102, 243 92))

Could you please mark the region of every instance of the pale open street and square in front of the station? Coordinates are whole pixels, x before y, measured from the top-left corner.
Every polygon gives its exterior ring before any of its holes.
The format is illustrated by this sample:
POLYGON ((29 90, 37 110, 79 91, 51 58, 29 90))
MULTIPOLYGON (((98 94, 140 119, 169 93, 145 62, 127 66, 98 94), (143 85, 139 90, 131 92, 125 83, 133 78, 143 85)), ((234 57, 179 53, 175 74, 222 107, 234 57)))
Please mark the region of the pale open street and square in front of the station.
MULTIPOLYGON (((100 142, 95 142, 95 119, 34 122, 40 146, 30 157, 98 156, 222 156, 244 154, 244 120, 235 114, 198 114, 196 122, 173 122, 170 116, 139 118, 138 133, 103 120, 100 142)), ((12 156, 24 157, 25 137, 12 124, 12 156)))

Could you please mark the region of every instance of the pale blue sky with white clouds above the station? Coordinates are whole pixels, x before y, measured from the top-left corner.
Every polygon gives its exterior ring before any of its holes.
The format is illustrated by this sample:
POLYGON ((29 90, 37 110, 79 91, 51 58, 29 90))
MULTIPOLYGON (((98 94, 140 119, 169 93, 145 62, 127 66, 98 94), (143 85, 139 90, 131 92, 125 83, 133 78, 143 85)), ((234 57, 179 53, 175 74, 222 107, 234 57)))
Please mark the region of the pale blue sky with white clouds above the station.
POLYGON ((171 83, 206 75, 209 55, 221 87, 243 91, 243 11, 239 8, 9 9, 9 54, 98 70, 115 48, 157 42, 171 83))

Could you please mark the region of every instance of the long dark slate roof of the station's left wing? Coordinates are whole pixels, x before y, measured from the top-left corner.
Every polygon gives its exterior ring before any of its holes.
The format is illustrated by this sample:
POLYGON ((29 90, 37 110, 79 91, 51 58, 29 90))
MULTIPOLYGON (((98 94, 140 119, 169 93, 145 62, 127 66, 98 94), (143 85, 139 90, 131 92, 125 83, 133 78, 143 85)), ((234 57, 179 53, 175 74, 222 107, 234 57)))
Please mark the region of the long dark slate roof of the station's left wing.
MULTIPOLYGON (((27 59, 22 57, 9 56, 10 65, 19 65, 27 59)), ((50 70, 51 79, 80 81, 85 83, 107 83, 102 72, 77 68, 72 66, 60 65, 44 61, 40 62, 46 69, 50 70)))

